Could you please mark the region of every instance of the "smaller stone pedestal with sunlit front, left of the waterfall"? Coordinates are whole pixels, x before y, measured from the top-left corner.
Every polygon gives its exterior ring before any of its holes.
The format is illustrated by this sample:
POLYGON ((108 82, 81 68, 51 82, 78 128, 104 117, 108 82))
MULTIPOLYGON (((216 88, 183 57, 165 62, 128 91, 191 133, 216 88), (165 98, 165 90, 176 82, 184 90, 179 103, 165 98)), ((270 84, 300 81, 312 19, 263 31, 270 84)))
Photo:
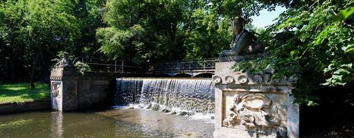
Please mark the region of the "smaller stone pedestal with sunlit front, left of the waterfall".
POLYGON ((75 68, 51 71, 51 108, 59 111, 78 109, 78 72, 75 68))

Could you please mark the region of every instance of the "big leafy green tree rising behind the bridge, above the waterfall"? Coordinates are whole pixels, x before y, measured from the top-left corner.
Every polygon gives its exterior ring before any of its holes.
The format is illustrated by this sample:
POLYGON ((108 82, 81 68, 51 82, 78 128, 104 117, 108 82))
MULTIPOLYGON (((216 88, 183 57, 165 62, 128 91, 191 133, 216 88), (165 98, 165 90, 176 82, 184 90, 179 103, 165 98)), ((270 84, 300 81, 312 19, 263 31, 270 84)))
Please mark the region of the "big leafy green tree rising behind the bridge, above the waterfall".
POLYGON ((130 59, 136 63, 154 60, 156 57, 170 57, 170 48, 181 49, 175 42, 180 17, 169 15, 169 12, 176 14, 181 11, 182 5, 177 3, 107 1, 103 19, 109 27, 97 30, 98 41, 103 44, 100 51, 113 59, 130 59))

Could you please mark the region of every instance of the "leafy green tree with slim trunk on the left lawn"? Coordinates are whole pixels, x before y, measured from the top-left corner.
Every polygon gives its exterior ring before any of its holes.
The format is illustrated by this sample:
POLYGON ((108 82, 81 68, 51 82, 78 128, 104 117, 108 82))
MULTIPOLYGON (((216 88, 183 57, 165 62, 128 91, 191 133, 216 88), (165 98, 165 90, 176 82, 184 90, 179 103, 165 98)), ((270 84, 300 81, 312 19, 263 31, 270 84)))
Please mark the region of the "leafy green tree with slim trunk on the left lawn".
MULTIPOLYGON (((31 88, 35 88, 34 79, 39 57, 45 57, 46 51, 60 46, 71 46, 73 39, 80 35, 76 18, 71 15, 73 4, 67 1, 6 1, 1 3, 3 21, 1 21, 1 39, 10 52, 10 60, 19 59, 15 53, 23 55, 31 68, 31 88)), ((42 58, 47 62, 48 59, 42 58)), ((9 61, 9 63, 15 63, 9 61)), ((46 64, 48 65, 48 64, 46 64)))

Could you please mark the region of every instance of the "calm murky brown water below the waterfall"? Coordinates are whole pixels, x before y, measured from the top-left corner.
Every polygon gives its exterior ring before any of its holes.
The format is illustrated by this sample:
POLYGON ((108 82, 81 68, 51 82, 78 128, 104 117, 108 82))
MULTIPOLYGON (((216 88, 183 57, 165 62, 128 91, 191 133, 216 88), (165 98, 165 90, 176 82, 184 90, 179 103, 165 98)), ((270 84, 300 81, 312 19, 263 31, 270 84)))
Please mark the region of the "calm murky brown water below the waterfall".
POLYGON ((213 130, 210 119, 141 109, 0 115, 0 137, 212 137, 213 130))

